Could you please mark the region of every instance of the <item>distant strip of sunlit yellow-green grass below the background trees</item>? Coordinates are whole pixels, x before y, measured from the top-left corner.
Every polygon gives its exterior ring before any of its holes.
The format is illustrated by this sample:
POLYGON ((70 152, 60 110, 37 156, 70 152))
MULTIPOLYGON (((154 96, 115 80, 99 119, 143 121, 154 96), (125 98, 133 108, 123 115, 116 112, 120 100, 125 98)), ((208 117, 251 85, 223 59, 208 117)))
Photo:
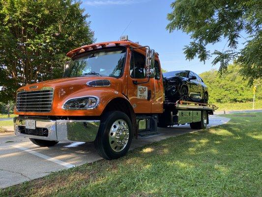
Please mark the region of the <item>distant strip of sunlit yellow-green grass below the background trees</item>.
MULTIPOLYGON (((253 102, 233 102, 233 103, 212 103, 218 106, 217 111, 249 110, 253 107, 253 102)), ((262 109, 262 100, 255 101, 255 109, 262 109)))

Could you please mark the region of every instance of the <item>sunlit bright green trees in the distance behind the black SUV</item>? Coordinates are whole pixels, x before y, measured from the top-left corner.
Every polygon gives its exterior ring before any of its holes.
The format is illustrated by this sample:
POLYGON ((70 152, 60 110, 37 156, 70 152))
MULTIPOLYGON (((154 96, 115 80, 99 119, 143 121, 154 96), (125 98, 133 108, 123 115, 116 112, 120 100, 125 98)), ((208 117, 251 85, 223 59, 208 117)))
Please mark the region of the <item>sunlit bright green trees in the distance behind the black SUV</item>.
MULTIPOLYGON (((240 66, 230 65, 221 76, 215 69, 200 74, 208 87, 209 101, 212 103, 246 102, 253 100, 253 86, 239 74, 240 66)), ((262 99, 262 80, 257 85, 256 99, 262 99)))

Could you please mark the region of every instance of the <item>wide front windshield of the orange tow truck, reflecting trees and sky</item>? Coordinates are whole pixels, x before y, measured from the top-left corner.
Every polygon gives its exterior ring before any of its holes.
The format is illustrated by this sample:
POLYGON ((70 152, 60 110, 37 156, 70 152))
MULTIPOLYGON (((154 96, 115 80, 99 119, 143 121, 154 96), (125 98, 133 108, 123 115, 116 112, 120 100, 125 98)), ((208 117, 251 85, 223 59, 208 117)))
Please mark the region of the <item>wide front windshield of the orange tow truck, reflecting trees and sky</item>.
POLYGON ((90 51, 73 58, 65 69, 64 77, 87 75, 120 77, 124 67, 124 47, 90 51))

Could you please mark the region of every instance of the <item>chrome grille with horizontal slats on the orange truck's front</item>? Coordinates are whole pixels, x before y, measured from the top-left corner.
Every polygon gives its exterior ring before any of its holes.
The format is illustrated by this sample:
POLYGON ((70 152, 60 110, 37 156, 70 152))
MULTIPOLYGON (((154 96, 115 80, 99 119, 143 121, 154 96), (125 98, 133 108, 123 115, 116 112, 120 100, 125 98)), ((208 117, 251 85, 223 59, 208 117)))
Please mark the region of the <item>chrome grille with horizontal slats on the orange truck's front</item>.
POLYGON ((18 92, 16 110, 18 112, 50 112, 53 92, 53 89, 18 92))

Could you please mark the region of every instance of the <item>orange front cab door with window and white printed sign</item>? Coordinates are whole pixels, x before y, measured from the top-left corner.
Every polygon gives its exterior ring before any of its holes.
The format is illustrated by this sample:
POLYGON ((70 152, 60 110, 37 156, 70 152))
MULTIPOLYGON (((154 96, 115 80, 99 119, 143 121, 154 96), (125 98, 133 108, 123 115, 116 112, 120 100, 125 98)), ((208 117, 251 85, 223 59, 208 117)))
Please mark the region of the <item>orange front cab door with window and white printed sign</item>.
POLYGON ((151 113, 151 79, 147 82, 145 65, 146 53, 142 50, 133 50, 130 58, 127 97, 135 113, 151 113))

